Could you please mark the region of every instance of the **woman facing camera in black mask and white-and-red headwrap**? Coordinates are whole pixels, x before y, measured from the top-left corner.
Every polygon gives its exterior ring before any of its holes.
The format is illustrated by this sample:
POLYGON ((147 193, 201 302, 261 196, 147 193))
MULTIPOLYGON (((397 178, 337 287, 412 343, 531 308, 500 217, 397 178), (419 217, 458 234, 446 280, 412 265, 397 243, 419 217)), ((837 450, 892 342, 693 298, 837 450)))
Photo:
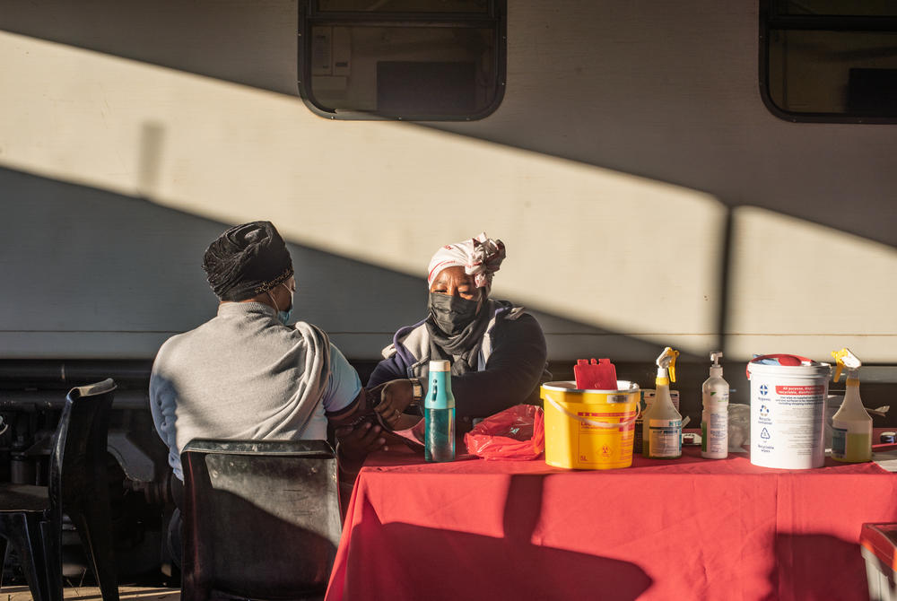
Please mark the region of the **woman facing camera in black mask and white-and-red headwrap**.
MULTIPOLYGON (((504 257, 501 240, 485 233, 440 248, 427 278, 429 315, 396 332, 368 387, 400 379, 382 396, 391 406, 405 407, 416 396, 414 388, 427 388, 430 361, 448 360, 459 432, 469 430, 473 418, 519 403, 537 404, 540 382, 551 378, 542 327, 522 307, 489 298, 492 274, 504 257)), ((413 423, 383 417, 395 428, 413 423)))

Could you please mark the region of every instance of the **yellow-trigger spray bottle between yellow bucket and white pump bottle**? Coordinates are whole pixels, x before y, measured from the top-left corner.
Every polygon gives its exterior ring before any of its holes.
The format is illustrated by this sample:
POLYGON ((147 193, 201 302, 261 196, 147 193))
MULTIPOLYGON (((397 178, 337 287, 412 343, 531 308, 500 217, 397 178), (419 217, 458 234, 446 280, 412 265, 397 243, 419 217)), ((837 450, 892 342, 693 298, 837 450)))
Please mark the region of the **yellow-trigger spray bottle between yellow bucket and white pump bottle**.
POLYGON ((682 415, 670 398, 670 380, 675 382, 675 360, 679 356, 669 346, 658 357, 657 395, 645 410, 642 422, 641 454, 652 459, 682 457, 682 415), (668 376, 667 376, 668 372, 668 376))

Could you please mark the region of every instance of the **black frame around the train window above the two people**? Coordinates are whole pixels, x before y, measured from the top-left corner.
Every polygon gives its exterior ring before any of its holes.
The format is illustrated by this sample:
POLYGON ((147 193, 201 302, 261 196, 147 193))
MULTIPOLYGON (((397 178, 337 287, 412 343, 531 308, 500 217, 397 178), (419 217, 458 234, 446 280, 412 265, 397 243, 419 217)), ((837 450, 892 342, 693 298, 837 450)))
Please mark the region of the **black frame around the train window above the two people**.
POLYGON ((298 66, 299 78, 297 84, 299 93, 305 105, 316 115, 344 121, 476 121, 492 115, 504 100, 507 83, 507 55, 508 55, 508 17, 507 0, 489 0, 489 10, 484 13, 366 13, 338 11, 318 11, 315 8, 317 0, 300 0, 299 2, 299 30, 298 35, 298 66), (401 26, 402 24, 414 24, 425 26, 441 25, 470 27, 474 29, 495 30, 495 52, 493 68, 496 74, 495 96, 492 102, 476 113, 470 115, 413 115, 393 116, 382 115, 373 111, 341 110, 339 112, 323 106, 311 89, 311 56, 312 36, 311 30, 320 22, 344 23, 347 26, 364 24, 376 26, 401 26))

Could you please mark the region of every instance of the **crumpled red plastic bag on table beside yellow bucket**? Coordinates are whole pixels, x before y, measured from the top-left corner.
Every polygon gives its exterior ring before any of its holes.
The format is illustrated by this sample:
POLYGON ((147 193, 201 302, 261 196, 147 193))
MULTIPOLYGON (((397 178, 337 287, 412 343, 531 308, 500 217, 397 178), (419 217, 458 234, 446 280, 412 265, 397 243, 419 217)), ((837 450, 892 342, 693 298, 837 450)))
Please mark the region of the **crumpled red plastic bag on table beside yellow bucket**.
POLYGON ((483 459, 535 459, 545 449, 542 407, 514 405, 464 435, 467 452, 483 459))

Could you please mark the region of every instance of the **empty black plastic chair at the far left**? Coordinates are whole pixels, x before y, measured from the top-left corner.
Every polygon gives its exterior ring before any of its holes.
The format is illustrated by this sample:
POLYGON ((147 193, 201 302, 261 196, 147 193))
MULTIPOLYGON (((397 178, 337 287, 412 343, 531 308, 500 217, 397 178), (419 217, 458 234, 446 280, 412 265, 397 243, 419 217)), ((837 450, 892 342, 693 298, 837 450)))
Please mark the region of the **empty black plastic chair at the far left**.
POLYGON ((53 437, 49 486, 0 485, 0 556, 7 541, 19 555, 35 601, 62 601, 62 519, 74 527, 100 583, 103 601, 118 601, 109 516, 106 446, 111 379, 72 388, 53 437))

